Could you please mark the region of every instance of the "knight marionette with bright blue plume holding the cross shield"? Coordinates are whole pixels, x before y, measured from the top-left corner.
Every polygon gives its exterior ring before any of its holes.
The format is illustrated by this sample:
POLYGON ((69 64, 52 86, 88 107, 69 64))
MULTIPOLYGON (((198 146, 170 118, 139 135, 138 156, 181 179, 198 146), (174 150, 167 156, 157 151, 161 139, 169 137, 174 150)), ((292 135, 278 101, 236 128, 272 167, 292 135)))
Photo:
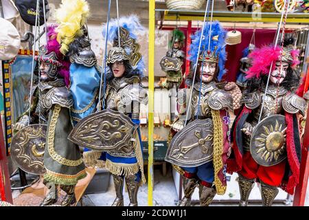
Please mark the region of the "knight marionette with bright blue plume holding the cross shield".
POLYGON ((205 26, 200 54, 198 47, 202 31, 192 37, 190 61, 193 68, 186 79, 190 89, 179 90, 179 117, 172 124, 174 137, 165 158, 184 177, 185 195, 180 206, 190 206, 196 186, 201 206, 209 206, 214 196, 223 195, 227 187, 228 111, 233 111, 233 98, 217 85, 225 72, 226 32, 218 22, 205 26), (198 63, 194 80, 196 56, 198 63))

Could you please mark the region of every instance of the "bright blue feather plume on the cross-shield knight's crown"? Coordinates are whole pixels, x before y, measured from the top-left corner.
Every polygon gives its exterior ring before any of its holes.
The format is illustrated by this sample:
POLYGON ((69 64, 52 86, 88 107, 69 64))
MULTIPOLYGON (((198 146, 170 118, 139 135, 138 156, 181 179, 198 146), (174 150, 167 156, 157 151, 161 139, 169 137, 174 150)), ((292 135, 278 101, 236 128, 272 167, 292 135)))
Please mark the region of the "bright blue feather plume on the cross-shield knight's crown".
MULTIPOLYGON (((210 32, 210 22, 205 23, 205 28, 203 31, 203 38, 201 43, 200 54, 207 52, 209 43, 209 32, 210 32)), ((194 35, 191 36, 192 44, 190 45, 189 60, 195 65, 196 58, 198 56, 198 46, 200 44, 202 30, 198 30, 194 35)), ((219 56, 219 73, 218 80, 221 80, 222 76, 225 74, 225 61, 227 61, 227 52, 225 52, 225 39, 227 31, 222 28, 218 21, 214 21, 211 25, 211 41, 210 41, 210 51, 214 52, 216 49, 216 56, 219 56), (218 36, 218 41, 214 40, 214 36, 218 36)))

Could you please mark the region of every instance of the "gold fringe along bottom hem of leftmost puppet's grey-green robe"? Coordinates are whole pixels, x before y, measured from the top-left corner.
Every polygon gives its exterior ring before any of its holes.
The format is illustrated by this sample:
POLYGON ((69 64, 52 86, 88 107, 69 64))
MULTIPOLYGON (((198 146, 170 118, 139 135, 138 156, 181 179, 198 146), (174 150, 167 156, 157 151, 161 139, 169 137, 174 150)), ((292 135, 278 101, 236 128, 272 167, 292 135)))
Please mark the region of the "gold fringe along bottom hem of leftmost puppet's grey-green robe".
POLYGON ((44 180, 47 182, 52 182, 53 184, 72 186, 76 185, 78 180, 83 179, 86 176, 86 170, 82 170, 76 175, 65 175, 62 173, 55 173, 51 170, 46 169, 46 173, 44 174, 44 180))

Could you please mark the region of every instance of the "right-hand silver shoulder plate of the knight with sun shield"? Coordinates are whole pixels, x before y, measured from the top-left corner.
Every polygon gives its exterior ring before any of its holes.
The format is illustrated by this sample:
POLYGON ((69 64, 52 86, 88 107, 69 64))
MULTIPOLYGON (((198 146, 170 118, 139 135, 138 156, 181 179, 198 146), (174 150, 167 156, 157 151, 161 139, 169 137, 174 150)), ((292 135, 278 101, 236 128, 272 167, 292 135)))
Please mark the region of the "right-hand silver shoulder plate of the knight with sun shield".
POLYGON ((282 107, 284 108, 284 111, 287 111, 288 113, 300 112, 301 115, 305 115, 306 100, 296 94, 288 94, 284 96, 284 99, 282 100, 282 107))

